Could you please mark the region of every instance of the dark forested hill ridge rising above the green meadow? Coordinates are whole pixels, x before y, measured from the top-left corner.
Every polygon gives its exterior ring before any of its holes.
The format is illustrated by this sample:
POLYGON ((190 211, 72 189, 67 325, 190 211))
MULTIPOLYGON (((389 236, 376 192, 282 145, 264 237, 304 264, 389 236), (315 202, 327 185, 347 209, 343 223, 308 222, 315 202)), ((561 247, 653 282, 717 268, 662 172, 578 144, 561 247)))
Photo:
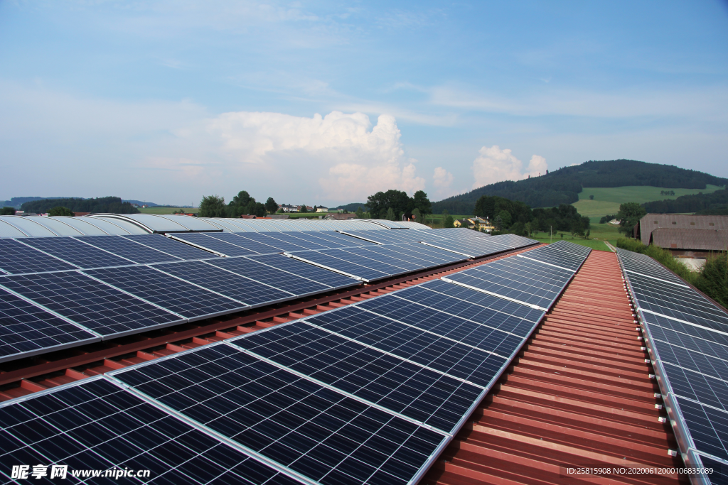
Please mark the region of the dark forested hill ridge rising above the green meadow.
POLYGON ((562 167, 541 177, 506 180, 485 185, 459 196, 432 203, 432 211, 441 214, 472 214, 480 196, 500 196, 521 201, 531 207, 555 207, 573 204, 585 187, 623 187, 651 185, 664 188, 706 188, 726 185, 728 179, 673 165, 648 164, 636 160, 586 161, 574 167, 562 167))

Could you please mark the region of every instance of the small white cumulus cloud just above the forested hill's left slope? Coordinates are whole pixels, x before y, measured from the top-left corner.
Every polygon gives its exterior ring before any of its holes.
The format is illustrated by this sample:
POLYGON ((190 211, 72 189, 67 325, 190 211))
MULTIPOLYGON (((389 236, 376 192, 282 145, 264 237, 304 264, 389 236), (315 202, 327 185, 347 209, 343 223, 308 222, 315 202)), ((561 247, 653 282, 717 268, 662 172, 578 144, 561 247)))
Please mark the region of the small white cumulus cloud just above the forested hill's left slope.
POLYGON ((548 165, 546 159, 539 155, 531 156, 529 166, 523 169, 523 162, 517 159, 510 149, 501 150, 498 145, 480 148, 480 156, 472 162, 472 174, 475 178, 472 188, 483 187, 502 180, 522 180, 529 175, 545 175, 548 165))

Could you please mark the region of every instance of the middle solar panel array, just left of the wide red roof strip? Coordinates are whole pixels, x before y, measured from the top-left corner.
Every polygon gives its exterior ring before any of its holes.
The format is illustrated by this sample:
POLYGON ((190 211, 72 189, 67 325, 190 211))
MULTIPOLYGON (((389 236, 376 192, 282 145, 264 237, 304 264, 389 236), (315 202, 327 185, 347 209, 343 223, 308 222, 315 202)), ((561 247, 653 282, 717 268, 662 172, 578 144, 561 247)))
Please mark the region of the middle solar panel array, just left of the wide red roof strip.
MULTIPOLYGON (((588 254, 560 250, 582 262, 588 254)), ((518 256, 502 261, 521 276, 553 269, 518 256)), ((47 446, 71 468, 201 474, 184 459, 206 463, 224 450, 231 456, 197 481, 232 470, 242 483, 416 483, 543 315, 498 292, 429 281, 9 401, 0 407, 4 450, 14 463, 44 462, 37 450, 46 445, 28 430, 50 426, 47 446), (154 443, 137 444, 139 429, 154 443)))

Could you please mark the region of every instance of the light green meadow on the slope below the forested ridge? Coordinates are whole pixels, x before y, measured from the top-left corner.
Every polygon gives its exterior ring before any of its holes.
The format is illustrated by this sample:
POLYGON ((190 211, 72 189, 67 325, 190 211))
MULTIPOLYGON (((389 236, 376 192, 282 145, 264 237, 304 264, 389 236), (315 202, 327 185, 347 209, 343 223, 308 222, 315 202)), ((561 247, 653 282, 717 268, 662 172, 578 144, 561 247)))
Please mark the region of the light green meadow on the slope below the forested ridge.
POLYGON ((665 199, 676 199, 679 196, 687 196, 694 193, 711 193, 720 190, 718 185, 708 185, 704 189, 699 188, 662 188, 642 185, 629 185, 626 187, 598 187, 583 188, 579 193, 579 201, 571 204, 577 208, 579 214, 589 217, 601 217, 603 215, 617 214, 620 204, 625 202, 663 201, 665 199), (674 196, 661 196, 660 191, 675 191, 674 196), (594 196, 590 200, 589 196, 594 196))

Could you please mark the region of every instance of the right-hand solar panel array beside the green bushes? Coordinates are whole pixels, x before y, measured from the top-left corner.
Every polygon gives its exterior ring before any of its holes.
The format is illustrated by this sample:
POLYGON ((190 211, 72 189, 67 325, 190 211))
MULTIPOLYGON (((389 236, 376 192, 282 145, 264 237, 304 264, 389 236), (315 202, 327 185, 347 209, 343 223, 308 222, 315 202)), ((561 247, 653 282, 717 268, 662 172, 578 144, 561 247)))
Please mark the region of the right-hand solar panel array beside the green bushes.
POLYGON ((652 258, 617 254, 685 462, 727 471, 728 313, 652 258))

